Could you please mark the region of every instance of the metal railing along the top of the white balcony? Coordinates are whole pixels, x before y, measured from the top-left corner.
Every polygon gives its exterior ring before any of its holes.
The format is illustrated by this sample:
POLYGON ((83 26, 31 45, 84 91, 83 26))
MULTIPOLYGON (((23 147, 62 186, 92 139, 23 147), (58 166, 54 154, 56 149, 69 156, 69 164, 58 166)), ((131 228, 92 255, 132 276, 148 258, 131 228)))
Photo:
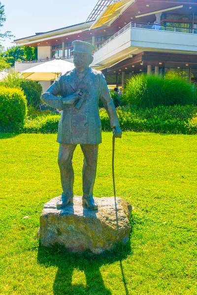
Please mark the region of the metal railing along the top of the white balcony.
POLYGON ((189 34, 197 34, 197 29, 188 29, 188 28, 183 28, 183 27, 171 27, 171 26, 162 26, 159 24, 144 24, 144 23, 129 23, 122 29, 120 29, 117 33, 115 33, 113 36, 111 36, 108 40, 103 42, 96 50, 95 52, 99 51, 102 47, 104 47, 106 44, 117 38, 118 36, 122 35, 124 32, 131 28, 137 28, 137 29, 151 29, 151 30, 162 30, 162 31, 170 31, 170 32, 178 32, 178 33, 189 33, 189 34))

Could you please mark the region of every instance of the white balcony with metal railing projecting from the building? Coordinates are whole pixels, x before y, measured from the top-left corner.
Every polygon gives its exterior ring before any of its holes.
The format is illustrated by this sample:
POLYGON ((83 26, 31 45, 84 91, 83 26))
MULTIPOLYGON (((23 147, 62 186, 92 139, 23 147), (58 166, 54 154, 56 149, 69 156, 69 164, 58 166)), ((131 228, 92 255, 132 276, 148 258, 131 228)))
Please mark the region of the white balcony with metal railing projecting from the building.
POLYGON ((92 66, 103 69, 143 51, 196 54, 197 29, 152 29, 131 22, 96 50, 92 66))

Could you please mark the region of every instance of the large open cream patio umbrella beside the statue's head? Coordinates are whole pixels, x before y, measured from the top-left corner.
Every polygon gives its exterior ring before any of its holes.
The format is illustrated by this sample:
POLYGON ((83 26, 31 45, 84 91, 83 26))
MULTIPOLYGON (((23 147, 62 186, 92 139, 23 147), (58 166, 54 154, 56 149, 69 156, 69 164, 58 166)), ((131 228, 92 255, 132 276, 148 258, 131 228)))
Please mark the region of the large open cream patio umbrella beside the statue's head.
POLYGON ((25 79, 34 81, 55 80, 61 73, 65 73, 74 68, 74 64, 64 59, 54 59, 33 66, 30 69, 22 71, 25 79))

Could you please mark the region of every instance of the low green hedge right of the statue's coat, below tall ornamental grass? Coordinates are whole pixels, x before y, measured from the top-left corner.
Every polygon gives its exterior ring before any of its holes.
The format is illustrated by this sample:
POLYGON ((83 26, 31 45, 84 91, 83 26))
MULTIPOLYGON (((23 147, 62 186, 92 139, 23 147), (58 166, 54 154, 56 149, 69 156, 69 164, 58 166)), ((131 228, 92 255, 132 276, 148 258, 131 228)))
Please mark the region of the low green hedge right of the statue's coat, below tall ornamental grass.
MULTIPOLYGON (((122 130, 151 131, 161 133, 197 134, 196 106, 159 106, 153 109, 123 107, 117 109, 122 130)), ((104 130, 110 130, 109 118, 100 110, 104 130)))

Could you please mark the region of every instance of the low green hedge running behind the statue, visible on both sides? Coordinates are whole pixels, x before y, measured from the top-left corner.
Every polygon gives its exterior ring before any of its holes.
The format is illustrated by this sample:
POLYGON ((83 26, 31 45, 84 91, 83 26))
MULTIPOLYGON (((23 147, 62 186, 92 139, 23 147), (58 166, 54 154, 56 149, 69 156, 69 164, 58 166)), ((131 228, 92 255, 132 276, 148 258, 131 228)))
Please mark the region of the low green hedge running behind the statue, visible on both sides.
MULTIPOLYGON (((197 134, 197 106, 117 109, 122 130, 161 133, 197 134)), ((104 109, 99 110, 102 129, 111 130, 104 109)), ((27 133, 57 133, 60 115, 41 115, 26 120, 23 131, 27 133)))

